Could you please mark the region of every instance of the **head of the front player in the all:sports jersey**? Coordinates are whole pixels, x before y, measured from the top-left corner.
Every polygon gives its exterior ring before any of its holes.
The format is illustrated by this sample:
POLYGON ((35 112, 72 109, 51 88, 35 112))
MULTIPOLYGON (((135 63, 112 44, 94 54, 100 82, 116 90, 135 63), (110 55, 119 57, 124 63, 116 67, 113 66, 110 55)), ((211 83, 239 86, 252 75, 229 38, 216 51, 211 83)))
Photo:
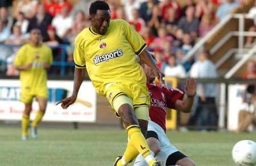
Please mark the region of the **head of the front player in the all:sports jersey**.
POLYGON ((104 1, 94 1, 90 5, 89 18, 93 30, 97 34, 104 35, 108 31, 110 22, 110 9, 108 3, 104 1))

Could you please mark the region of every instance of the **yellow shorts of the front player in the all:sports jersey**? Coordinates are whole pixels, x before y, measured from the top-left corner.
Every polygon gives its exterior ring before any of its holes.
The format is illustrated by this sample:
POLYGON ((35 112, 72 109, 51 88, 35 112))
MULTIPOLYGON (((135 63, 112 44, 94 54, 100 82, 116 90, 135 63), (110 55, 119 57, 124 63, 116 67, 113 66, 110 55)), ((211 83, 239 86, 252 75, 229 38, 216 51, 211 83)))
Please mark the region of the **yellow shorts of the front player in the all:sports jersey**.
POLYGON ((138 82, 122 82, 105 85, 104 96, 108 99, 112 109, 114 99, 123 94, 131 98, 134 109, 141 106, 149 108, 150 106, 150 96, 148 95, 146 84, 138 84, 138 82))

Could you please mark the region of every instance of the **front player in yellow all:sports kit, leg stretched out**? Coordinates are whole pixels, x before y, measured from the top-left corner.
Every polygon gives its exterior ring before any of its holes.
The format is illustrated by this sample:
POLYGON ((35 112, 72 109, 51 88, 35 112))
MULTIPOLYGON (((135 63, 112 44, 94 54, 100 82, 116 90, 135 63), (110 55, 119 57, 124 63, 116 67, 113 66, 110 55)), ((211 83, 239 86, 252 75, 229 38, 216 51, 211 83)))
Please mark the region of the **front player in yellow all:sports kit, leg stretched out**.
POLYGON ((129 136, 125 153, 117 157, 114 166, 127 165, 138 153, 148 165, 160 165, 142 134, 147 130, 150 97, 146 76, 136 61, 136 55, 154 70, 159 79, 162 73, 134 28, 124 20, 110 20, 108 3, 94 1, 89 14, 92 26, 81 31, 75 40, 73 94, 59 103, 67 109, 76 101, 86 67, 97 93, 108 99, 115 113, 122 118, 129 136))

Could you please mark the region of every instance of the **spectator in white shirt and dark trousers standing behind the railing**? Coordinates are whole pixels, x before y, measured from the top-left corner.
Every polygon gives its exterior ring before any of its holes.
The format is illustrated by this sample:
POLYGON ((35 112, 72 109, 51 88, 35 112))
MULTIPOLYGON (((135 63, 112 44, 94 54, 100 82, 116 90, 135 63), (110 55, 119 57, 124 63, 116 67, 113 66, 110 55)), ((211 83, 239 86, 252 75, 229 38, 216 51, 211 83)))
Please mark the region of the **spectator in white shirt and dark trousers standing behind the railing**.
MULTIPOLYGON (((212 61, 208 59, 209 53, 201 51, 199 60, 192 65, 190 76, 193 78, 217 78, 218 74, 212 61)), ((199 130, 217 130, 218 114, 215 103, 216 84, 197 83, 196 108, 191 112, 188 126, 197 125, 199 130)))

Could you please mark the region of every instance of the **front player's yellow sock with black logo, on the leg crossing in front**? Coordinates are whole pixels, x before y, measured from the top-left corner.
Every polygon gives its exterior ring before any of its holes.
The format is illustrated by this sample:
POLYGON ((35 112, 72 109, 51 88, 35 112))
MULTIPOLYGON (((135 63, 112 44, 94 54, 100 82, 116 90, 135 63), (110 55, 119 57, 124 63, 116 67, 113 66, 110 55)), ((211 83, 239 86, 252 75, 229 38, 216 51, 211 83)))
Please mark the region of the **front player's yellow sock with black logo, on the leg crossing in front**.
POLYGON ((147 141, 144 138, 141 129, 138 125, 131 125, 127 127, 127 134, 130 138, 129 142, 133 145, 133 147, 141 153, 143 158, 147 161, 148 165, 153 165, 156 161, 154 156, 152 155, 150 148, 147 145, 147 141))

